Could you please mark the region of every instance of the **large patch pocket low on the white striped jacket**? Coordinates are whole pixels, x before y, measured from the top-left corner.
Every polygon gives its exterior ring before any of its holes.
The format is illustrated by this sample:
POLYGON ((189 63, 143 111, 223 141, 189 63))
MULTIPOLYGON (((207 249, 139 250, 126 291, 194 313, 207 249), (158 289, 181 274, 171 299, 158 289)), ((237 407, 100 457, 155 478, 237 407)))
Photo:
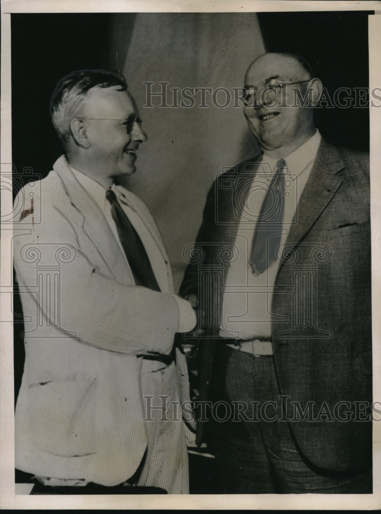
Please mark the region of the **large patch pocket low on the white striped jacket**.
POLYGON ((96 380, 29 385, 32 443, 47 453, 74 457, 95 453, 96 380))

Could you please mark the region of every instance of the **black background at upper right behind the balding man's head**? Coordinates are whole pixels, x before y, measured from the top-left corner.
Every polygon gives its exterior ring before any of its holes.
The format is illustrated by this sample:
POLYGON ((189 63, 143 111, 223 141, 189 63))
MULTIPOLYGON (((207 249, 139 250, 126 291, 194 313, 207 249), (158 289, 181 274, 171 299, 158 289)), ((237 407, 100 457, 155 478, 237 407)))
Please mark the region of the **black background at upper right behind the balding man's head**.
MULTIPOLYGON (((368 14, 371 11, 259 13, 267 51, 303 57, 327 88, 369 87, 368 14)), ((339 146, 369 151, 368 108, 315 112, 321 134, 339 146)))

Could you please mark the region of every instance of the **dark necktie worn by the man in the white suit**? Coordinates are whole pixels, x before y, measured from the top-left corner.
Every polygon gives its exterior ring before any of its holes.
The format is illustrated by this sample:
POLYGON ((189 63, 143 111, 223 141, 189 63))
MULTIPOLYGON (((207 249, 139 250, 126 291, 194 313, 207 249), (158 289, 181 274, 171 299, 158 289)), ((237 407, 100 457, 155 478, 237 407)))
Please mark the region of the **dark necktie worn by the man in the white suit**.
POLYGON ((125 251, 127 261, 131 267, 137 285, 148 287, 154 291, 160 291, 141 238, 132 226, 122 207, 120 207, 114 191, 109 189, 106 193, 106 198, 111 204, 111 215, 118 231, 119 240, 125 251))

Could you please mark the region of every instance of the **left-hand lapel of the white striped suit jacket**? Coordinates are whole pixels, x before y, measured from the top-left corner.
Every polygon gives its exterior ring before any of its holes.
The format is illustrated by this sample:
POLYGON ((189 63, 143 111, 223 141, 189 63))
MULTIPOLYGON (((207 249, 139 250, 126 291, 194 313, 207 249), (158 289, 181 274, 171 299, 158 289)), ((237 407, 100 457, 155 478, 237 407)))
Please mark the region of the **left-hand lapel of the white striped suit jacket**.
POLYGON ((126 273, 131 276, 131 271, 99 206, 81 186, 64 158, 55 163, 54 170, 59 175, 73 208, 83 216, 82 229, 93 242, 110 275, 125 282, 126 273))

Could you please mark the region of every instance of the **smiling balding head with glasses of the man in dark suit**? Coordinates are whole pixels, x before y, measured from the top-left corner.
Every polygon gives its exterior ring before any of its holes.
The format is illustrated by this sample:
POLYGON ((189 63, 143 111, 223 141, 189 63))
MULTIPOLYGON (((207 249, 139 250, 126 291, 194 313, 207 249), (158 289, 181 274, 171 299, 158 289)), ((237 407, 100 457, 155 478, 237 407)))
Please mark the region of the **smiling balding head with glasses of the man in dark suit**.
POLYGON ((245 88, 251 91, 245 116, 266 153, 286 157, 314 135, 311 106, 316 104, 322 84, 302 58, 289 53, 259 56, 248 68, 245 88), (296 101, 305 95, 306 104, 296 101))

